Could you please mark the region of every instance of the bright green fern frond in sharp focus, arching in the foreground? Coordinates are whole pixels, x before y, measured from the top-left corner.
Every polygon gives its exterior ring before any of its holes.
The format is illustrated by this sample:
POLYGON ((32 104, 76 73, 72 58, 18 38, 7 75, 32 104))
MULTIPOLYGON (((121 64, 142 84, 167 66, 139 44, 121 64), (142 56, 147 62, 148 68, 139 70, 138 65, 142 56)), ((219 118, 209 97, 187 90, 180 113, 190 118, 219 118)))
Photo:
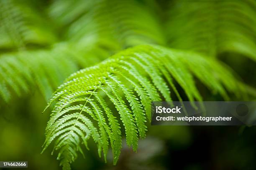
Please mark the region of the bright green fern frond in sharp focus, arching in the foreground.
POLYGON ((122 148, 121 126, 127 144, 136 151, 138 137, 146 136, 151 101, 172 101, 171 91, 182 100, 176 82, 192 103, 202 100, 193 75, 226 99, 228 92, 239 95, 243 90, 230 70, 215 59, 151 45, 124 50, 75 72, 50 100, 49 105, 58 101, 46 127, 43 151, 55 140, 61 165, 70 169, 77 151, 82 153, 81 144, 88 148, 92 138, 105 160, 111 146, 116 164, 122 148))

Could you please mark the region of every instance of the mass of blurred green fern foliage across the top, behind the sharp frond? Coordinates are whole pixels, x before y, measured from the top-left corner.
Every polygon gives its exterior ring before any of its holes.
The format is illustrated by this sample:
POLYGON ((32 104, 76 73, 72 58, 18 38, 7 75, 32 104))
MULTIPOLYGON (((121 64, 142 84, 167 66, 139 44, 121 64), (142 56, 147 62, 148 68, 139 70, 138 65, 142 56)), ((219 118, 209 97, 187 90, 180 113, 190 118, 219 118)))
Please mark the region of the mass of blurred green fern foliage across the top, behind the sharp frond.
POLYGON ((0 3, 0 50, 8 51, 0 55, 0 96, 5 102, 31 87, 48 100, 67 75, 140 44, 256 58, 251 0, 172 1, 162 15, 154 1, 55 0, 45 10, 29 0, 0 3))

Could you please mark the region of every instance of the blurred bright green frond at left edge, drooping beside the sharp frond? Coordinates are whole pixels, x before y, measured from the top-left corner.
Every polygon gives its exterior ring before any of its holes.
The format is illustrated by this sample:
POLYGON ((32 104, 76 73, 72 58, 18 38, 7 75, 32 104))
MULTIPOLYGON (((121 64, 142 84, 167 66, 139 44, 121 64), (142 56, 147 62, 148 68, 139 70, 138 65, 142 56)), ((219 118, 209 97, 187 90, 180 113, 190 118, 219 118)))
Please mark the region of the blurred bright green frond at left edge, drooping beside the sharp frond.
POLYGON ((0 55, 0 96, 8 102, 13 93, 20 96, 31 92, 31 87, 38 87, 48 100, 66 77, 80 67, 104 60, 108 55, 107 50, 97 46, 83 49, 81 45, 71 43, 56 44, 49 50, 26 50, 0 55))

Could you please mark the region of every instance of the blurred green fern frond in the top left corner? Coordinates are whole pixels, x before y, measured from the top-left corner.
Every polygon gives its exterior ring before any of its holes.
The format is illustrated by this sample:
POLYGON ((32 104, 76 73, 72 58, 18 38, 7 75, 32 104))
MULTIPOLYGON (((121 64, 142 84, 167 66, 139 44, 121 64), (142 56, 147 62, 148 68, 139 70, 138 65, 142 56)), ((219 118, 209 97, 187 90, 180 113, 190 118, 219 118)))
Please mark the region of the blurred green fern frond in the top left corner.
POLYGON ((0 1, 0 49, 25 49, 56 42, 53 29, 41 13, 26 1, 0 1), (33 15, 31 15, 33 13, 33 15))

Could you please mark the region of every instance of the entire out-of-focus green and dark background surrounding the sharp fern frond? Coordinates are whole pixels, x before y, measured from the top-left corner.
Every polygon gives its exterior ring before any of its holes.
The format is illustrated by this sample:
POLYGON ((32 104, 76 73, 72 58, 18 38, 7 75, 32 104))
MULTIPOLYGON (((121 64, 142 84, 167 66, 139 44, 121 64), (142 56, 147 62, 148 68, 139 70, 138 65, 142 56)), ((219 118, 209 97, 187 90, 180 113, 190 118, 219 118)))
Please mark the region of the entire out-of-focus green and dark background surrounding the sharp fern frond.
MULTIPOLYGON (((255 0, 0 0, 0 160, 61 169, 50 148, 40 154, 51 94, 73 72, 148 43, 216 57, 255 95, 255 0)), ((223 100, 197 86, 205 101, 223 100)), ((256 169, 255 127, 148 124, 138 152, 124 142, 116 166, 89 145, 72 169, 256 169)))

